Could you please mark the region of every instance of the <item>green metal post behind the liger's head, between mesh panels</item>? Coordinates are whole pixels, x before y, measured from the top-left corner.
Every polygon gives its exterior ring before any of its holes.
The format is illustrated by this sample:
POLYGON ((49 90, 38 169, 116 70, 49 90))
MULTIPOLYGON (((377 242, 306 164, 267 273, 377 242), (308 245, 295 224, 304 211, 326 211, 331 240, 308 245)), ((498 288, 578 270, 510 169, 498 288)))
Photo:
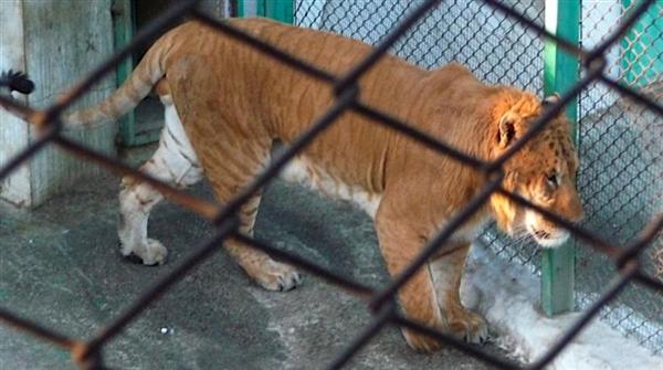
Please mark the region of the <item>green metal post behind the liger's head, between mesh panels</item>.
MULTIPOLYGON (((573 43, 579 43, 580 0, 546 0, 546 29, 573 43)), ((578 81, 579 62, 573 55, 547 40, 544 50, 544 91, 546 95, 564 94, 578 81)), ((572 123, 572 135, 578 145, 578 101, 566 108, 572 123)), ((575 246, 567 242, 555 250, 546 250, 541 260, 541 307, 551 316, 572 310, 575 288, 575 246)))

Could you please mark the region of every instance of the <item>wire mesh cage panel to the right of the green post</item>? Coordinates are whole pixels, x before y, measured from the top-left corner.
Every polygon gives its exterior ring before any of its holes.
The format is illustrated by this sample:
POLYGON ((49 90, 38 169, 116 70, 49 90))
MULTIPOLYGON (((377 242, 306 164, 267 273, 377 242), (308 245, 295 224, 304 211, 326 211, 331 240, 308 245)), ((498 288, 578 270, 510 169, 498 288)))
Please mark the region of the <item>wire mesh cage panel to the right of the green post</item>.
MULTIPOLYGON (((624 2, 585 1, 581 42, 593 47, 632 10, 624 2)), ((663 14, 659 1, 607 51, 607 74, 663 103, 663 14)), ((663 119, 604 85, 592 83, 579 97, 578 188, 585 225, 618 243, 636 235, 663 210, 663 119)), ((643 253, 642 267, 655 275, 660 235, 643 253)), ((615 272, 604 256, 577 252, 577 304, 585 308, 615 272)), ((663 351, 663 297, 633 287, 607 306, 601 317, 655 353, 663 351)))

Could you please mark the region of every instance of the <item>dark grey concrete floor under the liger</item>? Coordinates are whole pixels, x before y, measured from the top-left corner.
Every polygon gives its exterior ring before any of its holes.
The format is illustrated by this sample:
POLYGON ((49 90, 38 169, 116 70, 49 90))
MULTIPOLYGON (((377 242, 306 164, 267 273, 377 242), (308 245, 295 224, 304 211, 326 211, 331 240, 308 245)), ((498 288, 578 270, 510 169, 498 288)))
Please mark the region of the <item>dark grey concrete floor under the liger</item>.
MULTIPOLYGON (((0 209, 0 307, 90 338, 211 234, 197 215, 162 204, 150 233, 169 246, 168 263, 146 267, 123 260, 117 184, 113 177, 82 183, 32 213, 0 209)), ((209 197, 206 186, 192 192, 209 197)), ((256 236, 373 286, 388 279, 370 220, 299 187, 276 182, 267 190, 256 236)), ((266 292, 220 251, 114 339, 104 356, 114 369, 324 369, 368 319, 362 300, 307 274, 293 292, 266 292)), ((0 369, 73 367, 66 351, 0 326, 0 369)), ((347 368, 491 369, 453 349, 415 353, 394 328, 385 329, 347 368)))

